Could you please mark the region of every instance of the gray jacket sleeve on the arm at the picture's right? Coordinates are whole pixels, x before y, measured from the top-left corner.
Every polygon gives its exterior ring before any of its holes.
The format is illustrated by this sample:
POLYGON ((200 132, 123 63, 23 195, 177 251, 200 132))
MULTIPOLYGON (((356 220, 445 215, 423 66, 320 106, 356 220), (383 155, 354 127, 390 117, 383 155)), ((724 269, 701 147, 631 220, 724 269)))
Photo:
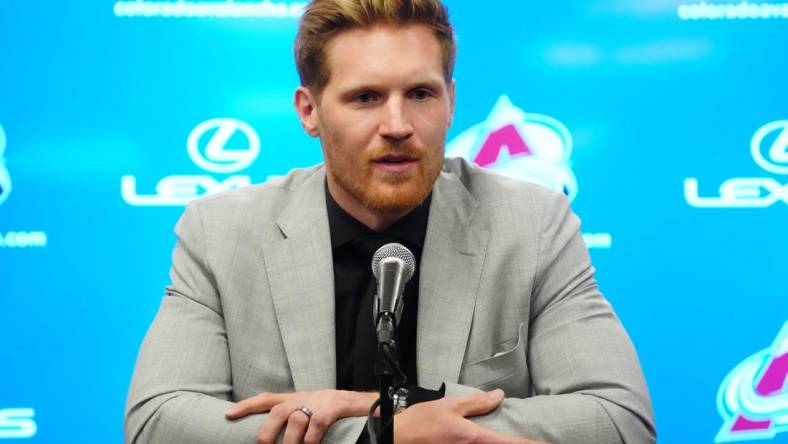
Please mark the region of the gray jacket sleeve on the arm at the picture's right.
MULTIPOLYGON (((552 443, 652 443, 651 403, 637 354, 600 294, 579 220, 563 195, 545 202, 527 347, 531 396, 506 398, 474 421, 552 443)), ((447 384, 447 395, 478 391, 447 384)))

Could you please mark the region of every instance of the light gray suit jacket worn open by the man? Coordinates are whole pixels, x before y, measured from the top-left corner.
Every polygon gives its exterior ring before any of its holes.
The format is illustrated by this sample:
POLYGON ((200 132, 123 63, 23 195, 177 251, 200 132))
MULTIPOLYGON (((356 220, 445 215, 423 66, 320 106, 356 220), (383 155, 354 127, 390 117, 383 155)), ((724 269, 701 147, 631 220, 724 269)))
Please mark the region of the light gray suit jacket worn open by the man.
MULTIPOLYGON (((227 421, 232 401, 334 387, 324 182, 322 166, 295 170, 187 207, 134 370, 128 442, 252 443, 266 415, 227 421)), ((507 434, 654 441, 637 356, 563 195, 447 160, 420 266, 420 385, 503 388, 474 420, 507 434)), ((340 420, 323 442, 352 443, 364 422, 340 420)))

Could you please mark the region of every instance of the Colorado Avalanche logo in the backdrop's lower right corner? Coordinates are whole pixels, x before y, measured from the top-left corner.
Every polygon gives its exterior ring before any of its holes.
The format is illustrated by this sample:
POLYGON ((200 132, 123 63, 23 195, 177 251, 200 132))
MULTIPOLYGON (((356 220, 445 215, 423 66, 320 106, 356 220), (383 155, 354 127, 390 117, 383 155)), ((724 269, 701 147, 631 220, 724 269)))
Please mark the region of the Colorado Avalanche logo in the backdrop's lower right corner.
POLYGON ((771 347, 725 378, 717 409, 725 420, 716 442, 771 439, 788 431, 788 322, 771 347))

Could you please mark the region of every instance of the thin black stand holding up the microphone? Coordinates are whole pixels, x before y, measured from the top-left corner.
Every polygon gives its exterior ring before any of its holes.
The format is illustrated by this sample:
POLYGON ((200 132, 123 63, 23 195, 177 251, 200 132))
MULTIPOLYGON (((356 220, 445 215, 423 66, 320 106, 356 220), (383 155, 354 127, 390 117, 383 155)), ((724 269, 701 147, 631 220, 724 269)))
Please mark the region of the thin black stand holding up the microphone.
POLYGON ((394 343, 395 329, 394 315, 388 311, 381 313, 377 323, 378 357, 375 361, 375 376, 380 381, 379 444, 394 444, 394 401, 392 396, 397 388, 395 378, 402 379, 402 371, 399 369, 397 349, 394 343))

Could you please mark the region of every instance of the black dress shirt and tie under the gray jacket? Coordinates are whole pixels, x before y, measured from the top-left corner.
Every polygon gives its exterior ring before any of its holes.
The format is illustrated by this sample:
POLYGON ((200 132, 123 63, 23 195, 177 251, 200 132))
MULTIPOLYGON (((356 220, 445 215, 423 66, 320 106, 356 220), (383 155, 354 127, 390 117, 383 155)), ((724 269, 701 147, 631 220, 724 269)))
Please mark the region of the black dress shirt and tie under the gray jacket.
MULTIPOLYGON (((445 387, 440 390, 420 388, 416 379, 419 264, 427 234, 430 200, 431 196, 428 196, 419 207, 377 233, 343 210, 326 187, 334 261, 337 389, 378 390, 378 379, 374 373, 377 337, 372 313, 376 290, 372 256, 381 246, 398 242, 407 247, 416 259, 416 270, 405 285, 404 309, 395 336, 400 368, 408 378, 407 405, 443 397, 445 387)), ((358 442, 369 442, 366 429, 358 442)))

